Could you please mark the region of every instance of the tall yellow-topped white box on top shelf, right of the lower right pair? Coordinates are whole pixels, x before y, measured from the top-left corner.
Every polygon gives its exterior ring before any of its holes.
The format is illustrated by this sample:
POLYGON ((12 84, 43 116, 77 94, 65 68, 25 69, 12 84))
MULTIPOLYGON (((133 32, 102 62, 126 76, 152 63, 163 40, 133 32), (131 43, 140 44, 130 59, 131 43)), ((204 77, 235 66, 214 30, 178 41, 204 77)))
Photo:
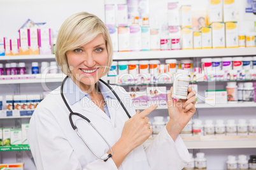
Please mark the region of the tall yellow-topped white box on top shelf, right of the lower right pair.
POLYGON ((238 22, 225 23, 226 48, 238 47, 238 22))

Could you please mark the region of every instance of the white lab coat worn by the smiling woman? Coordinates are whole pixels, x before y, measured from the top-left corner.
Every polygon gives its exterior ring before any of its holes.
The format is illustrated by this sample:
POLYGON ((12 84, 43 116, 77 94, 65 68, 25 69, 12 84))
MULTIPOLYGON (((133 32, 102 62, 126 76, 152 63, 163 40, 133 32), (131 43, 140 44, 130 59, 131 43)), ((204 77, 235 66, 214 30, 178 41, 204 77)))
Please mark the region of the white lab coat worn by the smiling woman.
MULTIPOLYGON (((115 91, 124 102, 129 114, 136 113, 129 95, 124 88, 115 86, 115 91)), ((66 99, 67 100, 67 99, 66 99)), ((68 100, 67 100, 68 101, 68 100)), ((117 99, 106 100, 111 119, 91 100, 80 100, 68 104, 73 112, 90 119, 111 146, 115 145, 128 120, 117 99)), ((109 147, 87 121, 73 116, 80 134, 98 156, 106 157, 109 147)), ((69 110, 60 96, 60 88, 55 89, 39 103, 31 117, 28 140, 38 170, 41 169, 117 169, 110 158, 106 162, 97 159, 71 128, 69 110)), ((115 154, 115 153, 113 153, 115 154)), ((189 161, 188 150, 180 136, 174 142, 166 128, 146 148, 143 145, 127 155, 119 170, 165 170, 182 169, 189 161)))

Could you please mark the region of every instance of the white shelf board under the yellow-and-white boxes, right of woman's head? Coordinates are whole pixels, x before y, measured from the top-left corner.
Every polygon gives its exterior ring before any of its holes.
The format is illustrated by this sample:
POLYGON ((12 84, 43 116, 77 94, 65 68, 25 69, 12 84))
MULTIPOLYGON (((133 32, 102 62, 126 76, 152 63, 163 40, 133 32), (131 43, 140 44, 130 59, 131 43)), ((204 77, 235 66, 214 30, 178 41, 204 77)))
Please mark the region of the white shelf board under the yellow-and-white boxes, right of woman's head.
POLYGON ((187 49, 171 51, 116 52, 113 60, 141 60, 157 58, 190 58, 214 56, 253 56, 256 48, 187 49))

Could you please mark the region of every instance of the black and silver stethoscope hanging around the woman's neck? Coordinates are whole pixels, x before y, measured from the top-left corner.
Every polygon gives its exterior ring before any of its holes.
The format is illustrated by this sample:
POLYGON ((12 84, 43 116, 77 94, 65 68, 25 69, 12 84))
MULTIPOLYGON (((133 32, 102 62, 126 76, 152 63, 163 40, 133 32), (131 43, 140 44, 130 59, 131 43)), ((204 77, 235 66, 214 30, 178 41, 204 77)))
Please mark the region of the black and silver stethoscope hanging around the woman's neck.
MULTIPOLYGON (((85 116, 82 115, 82 114, 78 114, 78 113, 76 113, 76 112, 73 112, 73 111, 71 110, 71 108, 69 107, 68 102, 66 101, 66 99, 64 98, 64 95, 63 95, 63 86, 64 86, 64 83, 66 82, 67 79, 68 79, 68 76, 66 76, 65 79, 62 81, 62 84, 61 84, 61 87, 60 87, 60 95, 61 95, 62 100, 64 101, 66 107, 68 107, 68 110, 69 110, 69 112, 70 112, 70 114, 69 114, 69 122, 70 122, 72 128, 73 128, 73 129, 76 131, 76 133, 78 134, 78 136, 82 139, 83 143, 85 143, 85 145, 87 146, 87 148, 89 148, 90 152, 92 152, 92 154, 94 154, 98 159, 104 160, 104 162, 106 162, 106 161, 113 155, 113 150, 112 150, 110 144, 108 143, 108 141, 106 141, 106 139, 103 137, 103 135, 102 135, 101 133, 99 133, 99 131, 98 131, 98 130, 96 129, 96 127, 92 124, 92 122, 90 122, 90 120, 89 120, 87 117, 85 117, 85 116), (79 117, 82 117, 82 118, 85 119, 87 122, 89 122, 90 126, 92 126, 92 128, 94 128, 94 129, 97 131, 97 133, 101 136, 101 138, 103 138, 103 140, 107 143, 108 147, 110 147, 111 154, 108 154, 108 156, 105 157, 105 158, 98 157, 98 156, 94 153, 94 151, 89 147, 89 145, 86 143, 86 141, 83 140, 82 135, 78 132, 78 128, 76 128, 75 124, 73 123, 72 115, 77 115, 77 116, 79 116, 79 117)), ((111 86, 108 85, 106 82, 104 82, 102 79, 99 79, 99 81, 103 82, 103 84, 105 84, 106 86, 108 86, 108 88, 111 89, 112 93, 114 93, 114 95, 117 97, 118 102, 120 103, 120 105, 122 105, 122 107, 124 108, 125 113, 128 115, 128 117, 129 117, 129 119, 130 119, 130 118, 131 118, 131 115, 128 113, 128 111, 127 111, 126 108, 124 107, 124 104, 122 103, 122 101, 120 100, 120 98, 117 96, 117 93, 115 93, 115 91, 113 90, 113 88, 111 88, 111 86)))

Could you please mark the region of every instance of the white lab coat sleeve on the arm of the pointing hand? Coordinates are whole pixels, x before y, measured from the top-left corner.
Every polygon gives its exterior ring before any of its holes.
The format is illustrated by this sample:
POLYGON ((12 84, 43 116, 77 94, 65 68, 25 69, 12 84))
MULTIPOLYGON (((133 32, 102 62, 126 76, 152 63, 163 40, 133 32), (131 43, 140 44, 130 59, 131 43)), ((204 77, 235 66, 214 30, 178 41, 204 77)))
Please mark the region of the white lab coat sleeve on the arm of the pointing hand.
MULTIPOLYGON (((82 169, 73 148, 48 108, 40 107, 34 112, 29 124, 28 140, 38 170, 82 169)), ((94 169, 117 170, 117 166, 110 158, 106 162, 97 159, 83 168, 94 169)))

